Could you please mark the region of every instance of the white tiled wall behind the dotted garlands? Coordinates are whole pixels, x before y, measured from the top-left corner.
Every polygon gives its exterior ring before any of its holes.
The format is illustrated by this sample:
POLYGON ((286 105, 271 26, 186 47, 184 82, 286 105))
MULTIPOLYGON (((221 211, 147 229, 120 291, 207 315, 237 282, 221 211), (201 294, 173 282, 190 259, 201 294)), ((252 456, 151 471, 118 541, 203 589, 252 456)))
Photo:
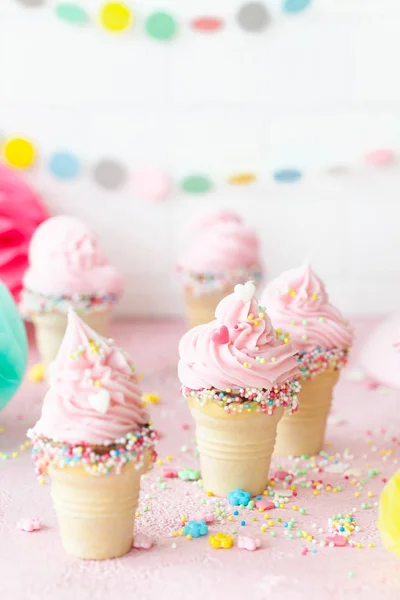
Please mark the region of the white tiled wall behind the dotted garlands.
MULTIPOLYGON (((91 14, 102 4, 75 2, 91 14)), ((314 0, 287 15, 281 0, 266 0, 271 22, 260 33, 237 25, 236 0, 126 3, 135 26, 111 35, 62 22, 51 0, 0 2, 0 132, 35 143, 38 161, 24 176, 53 214, 87 221, 125 273, 120 311, 180 314, 177 232, 218 206, 257 228, 270 276, 308 258, 346 313, 398 309, 400 171, 364 157, 399 146, 400 2, 314 0), (173 40, 146 36, 143 21, 157 9, 178 21, 173 40), (188 27, 209 14, 224 20, 221 31, 188 27), (60 150, 79 157, 73 181, 48 168, 60 150), (102 189, 91 170, 106 158, 130 173, 161 168, 171 193, 150 203, 129 177, 120 190, 102 189), (301 171, 298 182, 273 179, 289 167, 301 171), (238 172, 257 180, 227 183, 238 172), (193 173, 213 189, 183 192, 180 180, 193 173)))

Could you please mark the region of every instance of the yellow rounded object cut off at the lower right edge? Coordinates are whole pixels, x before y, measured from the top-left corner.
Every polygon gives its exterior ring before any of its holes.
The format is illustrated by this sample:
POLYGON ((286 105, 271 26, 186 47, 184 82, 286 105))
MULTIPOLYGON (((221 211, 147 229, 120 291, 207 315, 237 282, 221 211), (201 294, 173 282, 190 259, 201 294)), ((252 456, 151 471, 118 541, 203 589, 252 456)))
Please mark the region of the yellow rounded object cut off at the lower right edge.
POLYGON ((400 471, 383 488, 378 529, 386 548, 400 557, 400 471))

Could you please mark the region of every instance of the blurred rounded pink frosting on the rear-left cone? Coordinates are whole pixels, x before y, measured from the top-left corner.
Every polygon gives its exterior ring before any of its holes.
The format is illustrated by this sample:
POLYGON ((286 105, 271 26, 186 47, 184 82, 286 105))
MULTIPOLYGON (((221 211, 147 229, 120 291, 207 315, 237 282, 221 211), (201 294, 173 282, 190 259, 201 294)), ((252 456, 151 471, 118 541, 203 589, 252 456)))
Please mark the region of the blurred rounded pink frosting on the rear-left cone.
POLYGON ((123 279, 109 264, 84 223, 60 215, 44 221, 32 236, 24 287, 43 295, 119 295, 123 279))

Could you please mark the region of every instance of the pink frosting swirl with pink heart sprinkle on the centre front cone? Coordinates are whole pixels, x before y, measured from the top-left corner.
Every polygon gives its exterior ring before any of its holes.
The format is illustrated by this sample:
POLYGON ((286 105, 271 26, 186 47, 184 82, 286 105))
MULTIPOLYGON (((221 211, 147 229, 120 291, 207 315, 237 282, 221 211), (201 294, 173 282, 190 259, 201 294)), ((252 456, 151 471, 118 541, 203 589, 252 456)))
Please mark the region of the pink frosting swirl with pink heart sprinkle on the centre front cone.
POLYGON ((237 285, 217 306, 215 321, 182 337, 178 375, 184 386, 270 389, 297 377, 296 350, 276 337, 254 292, 250 282, 237 285))

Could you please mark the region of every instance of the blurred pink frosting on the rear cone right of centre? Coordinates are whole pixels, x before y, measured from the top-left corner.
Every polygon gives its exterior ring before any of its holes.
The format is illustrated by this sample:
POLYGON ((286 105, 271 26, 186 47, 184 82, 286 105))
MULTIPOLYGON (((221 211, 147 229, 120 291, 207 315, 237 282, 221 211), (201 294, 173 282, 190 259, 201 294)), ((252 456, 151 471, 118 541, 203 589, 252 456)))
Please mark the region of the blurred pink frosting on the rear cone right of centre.
POLYGON ((237 267, 260 264, 259 241, 240 217, 217 211, 191 228, 191 242, 178 267, 195 273, 220 274, 237 267))

